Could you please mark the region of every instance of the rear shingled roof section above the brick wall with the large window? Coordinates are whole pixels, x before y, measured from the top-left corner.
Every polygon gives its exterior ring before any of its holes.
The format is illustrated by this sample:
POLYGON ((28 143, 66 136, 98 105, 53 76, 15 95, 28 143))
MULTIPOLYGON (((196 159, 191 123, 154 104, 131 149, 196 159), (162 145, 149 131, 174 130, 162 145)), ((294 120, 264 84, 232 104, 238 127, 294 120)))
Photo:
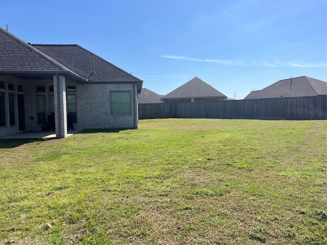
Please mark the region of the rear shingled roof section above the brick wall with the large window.
POLYGON ((32 44, 88 82, 141 82, 121 68, 77 44, 32 44), (93 73, 94 71, 94 73, 93 73))

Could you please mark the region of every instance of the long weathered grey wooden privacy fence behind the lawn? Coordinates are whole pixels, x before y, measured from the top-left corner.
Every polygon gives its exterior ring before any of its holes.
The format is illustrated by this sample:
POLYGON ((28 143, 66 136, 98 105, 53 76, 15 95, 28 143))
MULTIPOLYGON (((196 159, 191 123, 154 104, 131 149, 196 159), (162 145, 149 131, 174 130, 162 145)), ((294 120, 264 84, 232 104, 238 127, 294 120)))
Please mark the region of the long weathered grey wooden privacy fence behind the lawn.
POLYGON ((327 119, 327 95, 196 103, 139 104, 138 118, 327 119))

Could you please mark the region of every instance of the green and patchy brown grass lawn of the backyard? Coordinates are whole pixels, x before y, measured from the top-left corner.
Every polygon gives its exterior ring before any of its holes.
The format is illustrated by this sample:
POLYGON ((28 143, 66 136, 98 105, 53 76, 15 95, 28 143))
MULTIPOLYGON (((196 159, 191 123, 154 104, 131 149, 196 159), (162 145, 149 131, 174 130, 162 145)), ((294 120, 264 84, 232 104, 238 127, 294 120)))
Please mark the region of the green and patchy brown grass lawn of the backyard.
POLYGON ((0 244, 327 244, 327 122, 0 140, 0 244))

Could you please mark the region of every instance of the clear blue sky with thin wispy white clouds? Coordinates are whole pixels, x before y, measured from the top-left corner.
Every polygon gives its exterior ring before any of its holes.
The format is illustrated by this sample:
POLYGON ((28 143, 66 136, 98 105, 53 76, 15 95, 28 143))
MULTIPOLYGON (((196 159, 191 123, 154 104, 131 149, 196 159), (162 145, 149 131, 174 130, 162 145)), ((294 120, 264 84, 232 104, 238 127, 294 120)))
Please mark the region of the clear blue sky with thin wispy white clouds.
POLYGON ((0 26, 26 42, 79 44, 158 94, 198 77, 232 99, 327 81, 326 13, 326 0, 0 0, 0 26))

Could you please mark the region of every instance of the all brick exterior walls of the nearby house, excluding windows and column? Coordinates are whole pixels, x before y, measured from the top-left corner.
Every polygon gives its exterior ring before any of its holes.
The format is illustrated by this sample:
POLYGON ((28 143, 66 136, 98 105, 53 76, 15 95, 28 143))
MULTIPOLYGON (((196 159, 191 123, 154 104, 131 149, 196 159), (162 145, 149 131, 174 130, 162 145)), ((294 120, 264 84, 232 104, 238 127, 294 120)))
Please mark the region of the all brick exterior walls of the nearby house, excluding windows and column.
MULTIPOLYGON (((26 80, 13 76, 0 76, 0 81, 5 82, 5 89, 0 88, 0 93, 5 94, 6 126, 0 127, 0 136, 18 133, 18 103, 17 95, 24 95, 25 105, 25 131, 41 131, 44 124, 37 122, 36 96, 45 95, 46 115, 50 111, 50 96, 54 95, 53 78, 48 80, 26 80), (15 90, 8 90, 8 83, 14 84, 15 90), (17 91, 17 85, 22 86, 22 91, 17 91), (45 90, 37 92, 37 86, 44 86, 45 90), (15 94, 15 125, 9 125, 8 94, 15 94)), ((137 111, 137 86, 136 84, 76 84, 66 78, 66 87, 75 86, 76 91, 66 91, 66 94, 76 94, 77 123, 75 130, 83 129, 135 129, 138 122, 137 111), (110 114, 110 91, 131 91, 132 114, 110 114)), ((66 118, 67 115, 60 115, 66 118)))

